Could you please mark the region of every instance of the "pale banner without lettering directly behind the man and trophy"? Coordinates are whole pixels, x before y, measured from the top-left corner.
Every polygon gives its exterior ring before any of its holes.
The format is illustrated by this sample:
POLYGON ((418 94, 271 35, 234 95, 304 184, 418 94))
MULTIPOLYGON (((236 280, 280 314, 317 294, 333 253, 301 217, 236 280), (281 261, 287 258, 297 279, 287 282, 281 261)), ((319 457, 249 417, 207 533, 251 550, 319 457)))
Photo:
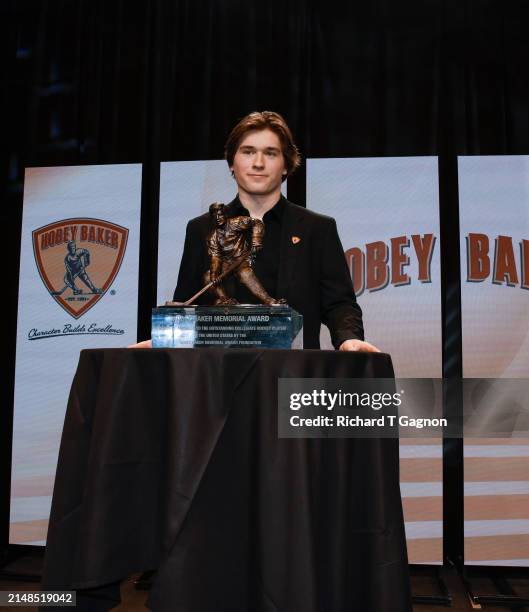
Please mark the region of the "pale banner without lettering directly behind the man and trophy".
MULTIPOLYGON (((282 185, 282 192, 286 194, 286 181, 282 185)), ((161 164, 158 304, 173 299, 187 222, 207 212, 213 202, 227 204, 236 195, 237 184, 226 160, 161 164)))

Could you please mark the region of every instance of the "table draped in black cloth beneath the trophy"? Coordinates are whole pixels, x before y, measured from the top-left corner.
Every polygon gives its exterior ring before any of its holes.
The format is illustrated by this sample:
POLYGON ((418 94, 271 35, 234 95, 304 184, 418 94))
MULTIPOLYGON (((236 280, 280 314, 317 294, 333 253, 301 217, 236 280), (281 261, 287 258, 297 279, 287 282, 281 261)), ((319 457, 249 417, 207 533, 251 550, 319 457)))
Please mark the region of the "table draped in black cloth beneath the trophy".
POLYGON ((397 441, 277 436, 279 377, 392 376, 384 354, 82 351, 43 588, 157 569, 157 611, 409 612, 397 441))

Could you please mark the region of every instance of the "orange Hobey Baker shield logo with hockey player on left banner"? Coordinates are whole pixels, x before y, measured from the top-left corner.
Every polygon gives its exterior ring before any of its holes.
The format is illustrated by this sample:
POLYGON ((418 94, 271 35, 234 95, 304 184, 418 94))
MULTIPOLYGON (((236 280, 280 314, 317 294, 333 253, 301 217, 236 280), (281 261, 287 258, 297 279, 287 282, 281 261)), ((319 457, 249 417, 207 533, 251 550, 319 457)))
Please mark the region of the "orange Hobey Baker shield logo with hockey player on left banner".
POLYGON ((129 230, 101 219, 63 219, 33 231, 40 277, 75 319, 110 288, 123 261, 129 230))

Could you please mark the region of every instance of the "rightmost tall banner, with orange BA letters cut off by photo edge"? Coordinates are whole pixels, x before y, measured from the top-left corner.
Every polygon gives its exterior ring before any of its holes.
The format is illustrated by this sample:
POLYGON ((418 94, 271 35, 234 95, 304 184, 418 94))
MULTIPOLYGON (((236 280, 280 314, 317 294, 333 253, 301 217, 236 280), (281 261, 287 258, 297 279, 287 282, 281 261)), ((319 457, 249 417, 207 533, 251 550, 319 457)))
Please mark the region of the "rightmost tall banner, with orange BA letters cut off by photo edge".
MULTIPOLYGON (((527 378, 529 156, 459 157, 458 167, 463 375, 527 378)), ((465 443, 469 565, 529 566, 527 444, 465 443)))

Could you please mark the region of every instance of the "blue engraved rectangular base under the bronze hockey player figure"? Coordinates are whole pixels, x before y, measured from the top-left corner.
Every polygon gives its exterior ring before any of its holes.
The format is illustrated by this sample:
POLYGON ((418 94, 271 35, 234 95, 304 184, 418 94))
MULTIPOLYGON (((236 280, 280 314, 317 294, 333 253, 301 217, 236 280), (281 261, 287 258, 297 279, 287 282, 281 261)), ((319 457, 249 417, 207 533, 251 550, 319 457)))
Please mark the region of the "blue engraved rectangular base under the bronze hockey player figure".
POLYGON ((303 348, 303 317, 285 304, 159 306, 153 348, 303 348))

